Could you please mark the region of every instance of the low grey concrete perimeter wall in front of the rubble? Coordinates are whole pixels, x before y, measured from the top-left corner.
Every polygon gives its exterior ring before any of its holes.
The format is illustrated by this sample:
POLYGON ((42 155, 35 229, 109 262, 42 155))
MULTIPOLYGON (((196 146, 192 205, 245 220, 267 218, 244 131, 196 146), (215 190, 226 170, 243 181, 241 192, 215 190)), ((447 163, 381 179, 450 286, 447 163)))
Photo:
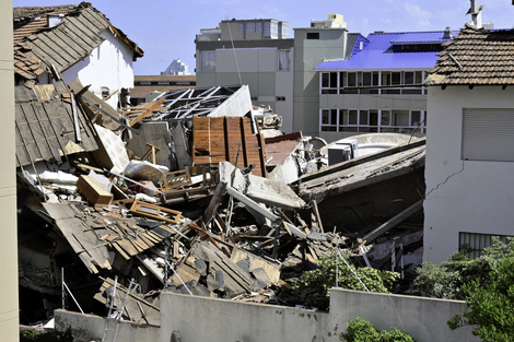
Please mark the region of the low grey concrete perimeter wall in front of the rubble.
MULTIPOLYGON (((332 288, 329 312, 162 293, 161 328, 120 323, 117 340, 170 342, 178 333, 180 342, 336 342, 347 321, 362 317, 377 330, 397 327, 418 342, 478 342, 469 327, 452 331, 446 325, 465 309, 465 303, 458 300, 342 288, 332 288)), ((104 333, 101 317, 65 310, 56 310, 55 317, 56 327, 71 327, 79 342, 101 340, 104 333)))

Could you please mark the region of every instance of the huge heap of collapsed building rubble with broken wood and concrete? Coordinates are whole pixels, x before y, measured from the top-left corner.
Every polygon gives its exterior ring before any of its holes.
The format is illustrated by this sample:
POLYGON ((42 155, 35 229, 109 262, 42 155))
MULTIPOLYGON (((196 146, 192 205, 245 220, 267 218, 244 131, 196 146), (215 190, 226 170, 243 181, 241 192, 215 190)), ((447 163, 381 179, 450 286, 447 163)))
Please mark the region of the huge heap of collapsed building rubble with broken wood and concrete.
MULTIPOLYGON (((70 89, 83 128, 67 139, 80 149, 49 137, 45 154, 39 140, 16 150, 21 286, 59 296, 66 274, 81 305, 105 315, 117 276, 124 319, 159 325, 162 290, 294 306, 305 299, 294 281, 336 248, 386 269, 416 260, 406 256, 422 236, 397 236, 419 219, 424 142, 327 167, 318 138, 265 140, 280 119, 253 108, 247 86, 167 92, 135 113, 70 89)), ((20 110, 38 108, 16 94, 20 110)))

